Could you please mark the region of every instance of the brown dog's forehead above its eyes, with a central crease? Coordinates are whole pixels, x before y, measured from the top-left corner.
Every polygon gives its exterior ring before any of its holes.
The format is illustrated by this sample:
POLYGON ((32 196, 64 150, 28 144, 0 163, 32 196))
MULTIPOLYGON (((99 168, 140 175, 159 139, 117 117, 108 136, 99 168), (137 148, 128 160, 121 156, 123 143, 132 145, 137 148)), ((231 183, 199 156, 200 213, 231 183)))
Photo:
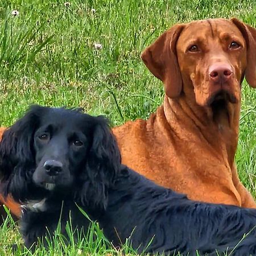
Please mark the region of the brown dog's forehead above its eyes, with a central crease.
POLYGON ((244 40, 242 33, 231 20, 205 19, 185 23, 179 41, 188 42, 188 40, 205 39, 205 37, 215 38, 224 35, 236 36, 244 40))

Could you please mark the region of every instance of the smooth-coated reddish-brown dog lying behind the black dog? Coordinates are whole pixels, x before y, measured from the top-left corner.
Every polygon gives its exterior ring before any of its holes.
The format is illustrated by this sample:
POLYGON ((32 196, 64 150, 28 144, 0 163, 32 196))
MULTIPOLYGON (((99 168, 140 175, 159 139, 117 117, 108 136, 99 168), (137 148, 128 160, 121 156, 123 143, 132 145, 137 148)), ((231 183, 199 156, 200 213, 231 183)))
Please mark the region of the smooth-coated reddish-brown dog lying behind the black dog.
POLYGON ((164 104, 147 121, 113 129, 123 163, 191 199, 255 208, 234 164, 243 77, 256 86, 255 40, 256 30, 237 19, 164 32, 142 54, 164 83, 164 104))

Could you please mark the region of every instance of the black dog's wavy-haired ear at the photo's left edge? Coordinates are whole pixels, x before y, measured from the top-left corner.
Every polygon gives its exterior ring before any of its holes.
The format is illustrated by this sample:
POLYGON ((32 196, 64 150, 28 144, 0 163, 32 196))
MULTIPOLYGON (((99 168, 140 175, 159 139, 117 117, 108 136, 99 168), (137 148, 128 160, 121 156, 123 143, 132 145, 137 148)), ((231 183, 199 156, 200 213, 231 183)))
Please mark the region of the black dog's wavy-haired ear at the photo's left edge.
POLYGON ((34 161, 33 134, 44 108, 31 106, 28 112, 5 130, 0 142, 0 179, 9 179, 15 166, 34 161))

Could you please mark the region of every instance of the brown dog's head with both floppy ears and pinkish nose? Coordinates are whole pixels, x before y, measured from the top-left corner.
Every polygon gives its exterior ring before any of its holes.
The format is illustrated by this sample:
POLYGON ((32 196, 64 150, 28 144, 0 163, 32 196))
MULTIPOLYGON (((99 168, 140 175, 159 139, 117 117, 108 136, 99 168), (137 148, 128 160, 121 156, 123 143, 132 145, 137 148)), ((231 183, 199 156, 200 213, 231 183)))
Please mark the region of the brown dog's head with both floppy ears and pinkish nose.
POLYGON ((245 76, 256 87, 256 30, 237 19, 176 24, 142 53, 166 95, 195 92, 200 106, 240 101, 245 76))

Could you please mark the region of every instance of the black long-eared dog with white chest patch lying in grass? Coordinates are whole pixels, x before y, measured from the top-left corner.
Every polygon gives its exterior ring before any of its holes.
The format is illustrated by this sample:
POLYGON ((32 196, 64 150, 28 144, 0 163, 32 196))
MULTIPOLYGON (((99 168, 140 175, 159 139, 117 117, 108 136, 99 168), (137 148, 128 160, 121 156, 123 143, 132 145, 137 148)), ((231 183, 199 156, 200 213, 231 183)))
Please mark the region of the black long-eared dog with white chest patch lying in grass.
POLYGON ((3 134, 0 170, 5 195, 25 205, 26 246, 46 227, 53 232, 60 215, 65 224, 69 211, 73 226, 88 229, 80 205, 116 246, 132 234, 138 252, 256 255, 255 209, 191 201, 122 166, 102 117, 32 107, 3 134))

